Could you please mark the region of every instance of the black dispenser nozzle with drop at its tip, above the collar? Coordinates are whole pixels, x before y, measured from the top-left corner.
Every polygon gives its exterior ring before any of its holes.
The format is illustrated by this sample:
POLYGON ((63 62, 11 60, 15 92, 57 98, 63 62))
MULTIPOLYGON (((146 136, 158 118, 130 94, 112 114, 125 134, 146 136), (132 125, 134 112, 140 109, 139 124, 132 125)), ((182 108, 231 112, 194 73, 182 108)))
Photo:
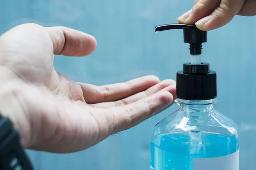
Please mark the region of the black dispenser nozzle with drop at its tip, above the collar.
POLYGON ((156 32, 170 29, 183 29, 184 42, 189 43, 190 54, 202 54, 202 43, 207 42, 207 31, 201 31, 196 26, 186 24, 166 24, 155 26, 156 32))

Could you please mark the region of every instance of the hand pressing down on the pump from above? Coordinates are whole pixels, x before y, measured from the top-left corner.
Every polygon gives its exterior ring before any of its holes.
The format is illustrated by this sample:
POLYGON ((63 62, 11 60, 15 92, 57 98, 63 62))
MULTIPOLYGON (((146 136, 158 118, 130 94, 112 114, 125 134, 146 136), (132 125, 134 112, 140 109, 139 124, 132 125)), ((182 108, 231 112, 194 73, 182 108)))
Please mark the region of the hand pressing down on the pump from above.
POLYGON ((178 21, 209 31, 226 25, 236 15, 256 15, 256 0, 195 0, 192 9, 178 21))

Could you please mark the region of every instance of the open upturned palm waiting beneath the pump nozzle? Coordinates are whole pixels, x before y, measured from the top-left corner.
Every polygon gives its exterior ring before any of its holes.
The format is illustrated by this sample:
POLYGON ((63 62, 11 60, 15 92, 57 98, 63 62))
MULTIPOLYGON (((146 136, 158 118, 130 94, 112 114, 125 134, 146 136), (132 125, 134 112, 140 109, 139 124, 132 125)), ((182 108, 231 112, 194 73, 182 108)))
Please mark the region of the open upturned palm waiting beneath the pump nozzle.
POLYGON ((176 84, 146 76, 95 86, 53 68, 53 54, 85 56, 94 37, 64 27, 23 24, 0 37, 0 111, 23 147, 69 153, 133 127, 173 102, 176 84))

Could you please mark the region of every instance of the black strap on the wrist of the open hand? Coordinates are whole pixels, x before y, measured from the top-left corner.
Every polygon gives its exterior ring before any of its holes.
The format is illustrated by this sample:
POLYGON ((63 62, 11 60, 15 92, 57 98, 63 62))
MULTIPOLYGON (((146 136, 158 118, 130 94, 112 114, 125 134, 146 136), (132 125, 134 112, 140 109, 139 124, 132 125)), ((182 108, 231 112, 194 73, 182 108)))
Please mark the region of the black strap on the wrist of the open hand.
POLYGON ((12 122, 0 115, 0 170, 33 170, 12 122))

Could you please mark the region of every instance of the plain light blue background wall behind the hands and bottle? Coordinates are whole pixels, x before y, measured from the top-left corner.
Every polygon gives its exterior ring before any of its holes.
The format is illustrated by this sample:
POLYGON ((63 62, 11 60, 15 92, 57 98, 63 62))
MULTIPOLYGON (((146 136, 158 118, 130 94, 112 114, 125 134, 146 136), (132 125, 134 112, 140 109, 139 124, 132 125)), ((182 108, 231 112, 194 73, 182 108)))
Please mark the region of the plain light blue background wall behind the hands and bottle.
MULTIPOLYGON (((55 57, 55 69, 81 82, 103 85, 154 74, 176 79, 189 61, 180 30, 156 35, 154 26, 175 23, 193 0, 0 0, 0 34, 22 23, 67 26, 96 37, 84 58, 55 57)), ((208 33, 203 61, 218 73, 217 109, 240 130, 240 170, 253 170, 256 157, 256 17, 235 17, 208 33)), ((28 151, 36 170, 149 170, 154 125, 177 108, 111 136, 79 153, 28 151)))

